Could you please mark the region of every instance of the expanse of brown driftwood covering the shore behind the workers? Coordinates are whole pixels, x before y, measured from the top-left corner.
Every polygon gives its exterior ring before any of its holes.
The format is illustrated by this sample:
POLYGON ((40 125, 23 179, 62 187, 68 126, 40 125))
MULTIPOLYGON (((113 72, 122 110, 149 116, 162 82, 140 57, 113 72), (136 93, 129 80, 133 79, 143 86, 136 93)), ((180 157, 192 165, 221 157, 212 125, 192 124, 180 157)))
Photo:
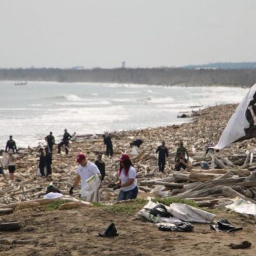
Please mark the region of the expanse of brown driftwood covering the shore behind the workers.
MULTIPOLYGON (((254 200, 256 184, 252 151, 255 141, 243 141, 221 150, 216 155, 205 156, 205 148, 217 143, 228 119, 234 113, 236 105, 229 104, 193 112, 192 122, 182 125, 157 127, 135 131, 113 132, 114 156, 103 156, 106 163, 106 177, 100 189, 100 199, 104 203, 115 202, 118 191, 108 188, 110 182, 117 180, 120 154, 131 154, 129 143, 135 138, 143 140, 140 154, 132 155, 140 196, 173 196, 190 198, 200 205, 223 205, 239 195, 254 200), (175 172, 174 159, 179 141, 184 142, 192 162, 191 172, 175 172), (156 148, 166 142, 170 156, 166 161, 164 173, 158 172, 156 148), (200 164, 207 161, 210 170, 201 170, 200 164), (237 194, 239 193, 239 194, 237 194)), ((76 177, 76 154, 84 152, 90 161, 95 161, 97 154, 105 154, 106 147, 101 135, 77 135, 77 140, 70 145, 70 154, 57 154, 54 146, 52 176, 47 179, 38 177, 38 152, 36 148, 19 150, 15 182, 0 178, 0 204, 37 200, 45 194, 47 186, 53 184, 64 195, 68 195, 76 177)), ((79 188, 74 190, 75 196, 79 188)))

